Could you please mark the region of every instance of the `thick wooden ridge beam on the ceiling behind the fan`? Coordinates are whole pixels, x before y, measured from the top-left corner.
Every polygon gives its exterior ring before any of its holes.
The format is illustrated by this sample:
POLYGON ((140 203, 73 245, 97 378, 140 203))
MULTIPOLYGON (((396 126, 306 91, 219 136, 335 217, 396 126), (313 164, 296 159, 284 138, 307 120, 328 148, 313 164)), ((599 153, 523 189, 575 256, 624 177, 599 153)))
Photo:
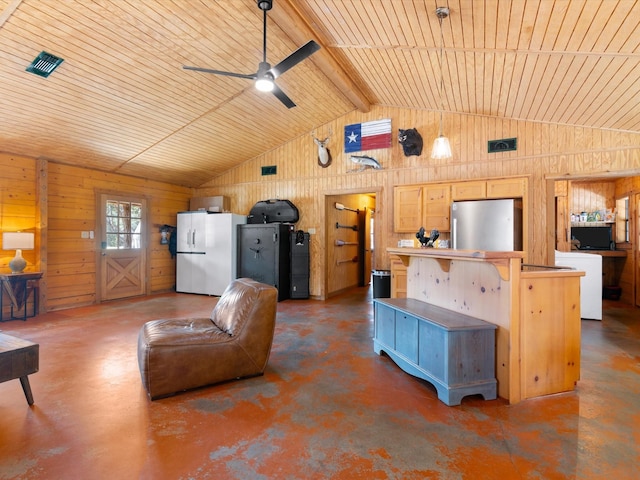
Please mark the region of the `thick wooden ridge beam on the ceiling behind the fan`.
POLYGON ((269 18, 273 20, 289 37, 299 45, 314 39, 322 47, 310 60, 335 85, 335 87, 363 113, 371 109, 371 101, 353 82, 344 67, 331 54, 321 35, 314 31, 304 20, 299 6, 291 0, 280 0, 277 7, 269 11, 269 18))

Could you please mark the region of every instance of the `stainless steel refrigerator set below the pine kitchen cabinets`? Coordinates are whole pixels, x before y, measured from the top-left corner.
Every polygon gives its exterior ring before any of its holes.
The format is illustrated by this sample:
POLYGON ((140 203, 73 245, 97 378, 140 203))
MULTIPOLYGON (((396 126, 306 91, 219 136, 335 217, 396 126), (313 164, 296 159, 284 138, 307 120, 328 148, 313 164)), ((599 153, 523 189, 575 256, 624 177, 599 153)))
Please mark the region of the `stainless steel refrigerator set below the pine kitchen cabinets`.
POLYGON ((451 246, 461 250, 522 250, 522 200, 453 202, 451 246))

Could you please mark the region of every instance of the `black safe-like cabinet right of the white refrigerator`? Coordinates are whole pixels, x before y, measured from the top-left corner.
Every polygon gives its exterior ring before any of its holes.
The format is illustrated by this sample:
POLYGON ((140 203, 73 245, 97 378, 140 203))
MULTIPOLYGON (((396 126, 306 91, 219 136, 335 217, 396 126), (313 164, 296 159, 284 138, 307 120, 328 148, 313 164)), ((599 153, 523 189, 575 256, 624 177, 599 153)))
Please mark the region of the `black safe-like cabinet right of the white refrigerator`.
POLYGON ((278 289, 278 301, 291 288, 291 231, 293 225, 238 225, 238 278, 248 277, 278 289))

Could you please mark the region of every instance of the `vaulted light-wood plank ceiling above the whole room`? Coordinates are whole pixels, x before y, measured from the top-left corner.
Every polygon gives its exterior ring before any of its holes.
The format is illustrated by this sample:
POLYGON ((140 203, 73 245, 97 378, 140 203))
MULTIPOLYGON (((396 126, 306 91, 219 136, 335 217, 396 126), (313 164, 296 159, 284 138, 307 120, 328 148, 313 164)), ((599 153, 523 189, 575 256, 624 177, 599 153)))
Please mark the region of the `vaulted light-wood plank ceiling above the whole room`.
POLYGON ((274 0, 267 60, 322 49, 252 81, 256 0, 0 0, 0 150, 186 186, 372 105, 640 132, 635 0, 274 0), (49 77, 25 72, 47 51, 49 77))

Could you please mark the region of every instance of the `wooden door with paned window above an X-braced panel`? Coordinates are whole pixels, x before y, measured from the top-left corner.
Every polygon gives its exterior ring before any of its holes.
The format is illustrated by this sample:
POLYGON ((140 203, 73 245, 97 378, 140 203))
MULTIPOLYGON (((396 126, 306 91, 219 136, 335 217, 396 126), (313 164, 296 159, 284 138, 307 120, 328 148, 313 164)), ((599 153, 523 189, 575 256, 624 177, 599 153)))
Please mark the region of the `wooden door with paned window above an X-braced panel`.
POLYGON ((146 294, 146 200, 101 194, 99 205, 98 301, 146 294))

